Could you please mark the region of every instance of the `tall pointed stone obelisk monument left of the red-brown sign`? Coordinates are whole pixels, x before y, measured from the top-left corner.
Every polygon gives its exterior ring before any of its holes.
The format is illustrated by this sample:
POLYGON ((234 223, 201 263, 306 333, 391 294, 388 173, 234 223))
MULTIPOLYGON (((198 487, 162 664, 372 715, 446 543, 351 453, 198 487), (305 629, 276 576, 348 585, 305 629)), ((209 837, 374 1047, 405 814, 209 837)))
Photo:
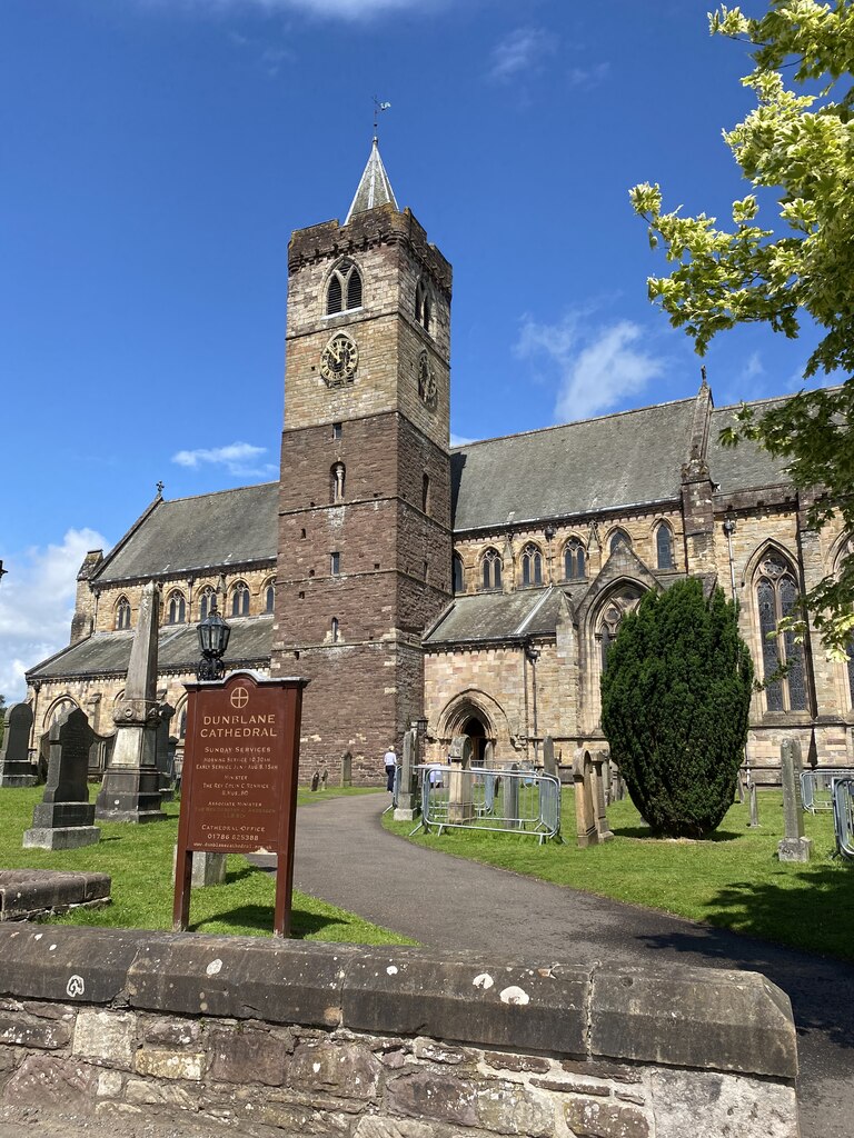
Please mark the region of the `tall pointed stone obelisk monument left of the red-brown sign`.
POLYGON ((159 611, 161 592, 151 582, 142 589, 124 698, 113 715, 113 758, 96 800, 95 816, 104 822, 157 822, 166 817, 161 809, 157 769, 159 611))

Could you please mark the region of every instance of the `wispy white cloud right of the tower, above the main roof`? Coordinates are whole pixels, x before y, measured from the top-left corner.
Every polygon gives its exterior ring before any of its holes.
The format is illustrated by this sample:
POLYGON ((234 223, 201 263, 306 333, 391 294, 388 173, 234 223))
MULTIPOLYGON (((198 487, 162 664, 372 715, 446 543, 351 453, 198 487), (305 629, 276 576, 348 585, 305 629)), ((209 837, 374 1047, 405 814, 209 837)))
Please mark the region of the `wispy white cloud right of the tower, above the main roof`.
POLYGON ((663 360, 638 346, 639 324, 591 327, 589 318, 576 311, 557 324, 539 324, 525 316, 514 348, 520 360, 544 358, 557 374, 555 415, 561 422, 609 411, 664 371, 663 360))

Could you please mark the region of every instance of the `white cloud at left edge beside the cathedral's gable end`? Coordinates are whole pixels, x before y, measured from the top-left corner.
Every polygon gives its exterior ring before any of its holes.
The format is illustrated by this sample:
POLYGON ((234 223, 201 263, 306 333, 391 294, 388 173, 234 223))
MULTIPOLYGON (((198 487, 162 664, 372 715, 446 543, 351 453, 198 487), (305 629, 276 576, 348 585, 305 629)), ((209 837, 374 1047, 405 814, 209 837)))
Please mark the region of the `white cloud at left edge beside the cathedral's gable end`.
POLYGON ((69 529, 61 545, 6 559, 8 576, 0 584, 0 692, 7 703, 24 698, 27 668, 68 643, 83 558, 107 545, 92 529, 69 529))

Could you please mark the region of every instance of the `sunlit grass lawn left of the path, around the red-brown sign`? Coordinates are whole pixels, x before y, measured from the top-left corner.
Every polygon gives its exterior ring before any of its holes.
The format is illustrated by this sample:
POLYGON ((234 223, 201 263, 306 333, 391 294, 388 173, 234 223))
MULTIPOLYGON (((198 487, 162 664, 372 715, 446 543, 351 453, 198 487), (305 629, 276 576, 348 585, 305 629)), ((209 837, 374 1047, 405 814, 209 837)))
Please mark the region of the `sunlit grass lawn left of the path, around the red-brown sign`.
MULTIPOLYGON (((98 787, 90 790, 92 800, 98 787)), ((0 867, 7 869, 90 869, 113 877, 113 904, 101 909, 76 909, 56 918, 63 924, 120 929, 172 927, 172 861, 178 840, 176 802, 165 806, 167 822, 98 823, 101 840, 79 850, 23 849, 22 835, 32 825, 33 807, 43 786, 0 790, 0 867)), ((339 794, 366 793, 334 787, 301 790, 298 802, 317 802, 339 794)), ((298 824, 298 822, 297 822, 298 824)), ((238 853, 230 853, 224 885, 194 889, 190 930, 233 935, 271 935, 276 879, 238 853)), ((291 935, 298 940, 350 941, 360 945, 409 945, 397 933, 362 921, 344 909, 294 892, 291 935)))

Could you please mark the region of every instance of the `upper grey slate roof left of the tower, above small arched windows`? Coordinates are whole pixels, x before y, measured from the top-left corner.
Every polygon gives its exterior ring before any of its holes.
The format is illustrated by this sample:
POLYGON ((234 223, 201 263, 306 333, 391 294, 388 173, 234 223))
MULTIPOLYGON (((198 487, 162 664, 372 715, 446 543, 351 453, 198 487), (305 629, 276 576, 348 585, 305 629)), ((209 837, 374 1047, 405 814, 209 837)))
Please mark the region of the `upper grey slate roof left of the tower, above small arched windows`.
POLYGON ((102 583, 276 559, 279 484, 159 501, 107 558, 102 583))

